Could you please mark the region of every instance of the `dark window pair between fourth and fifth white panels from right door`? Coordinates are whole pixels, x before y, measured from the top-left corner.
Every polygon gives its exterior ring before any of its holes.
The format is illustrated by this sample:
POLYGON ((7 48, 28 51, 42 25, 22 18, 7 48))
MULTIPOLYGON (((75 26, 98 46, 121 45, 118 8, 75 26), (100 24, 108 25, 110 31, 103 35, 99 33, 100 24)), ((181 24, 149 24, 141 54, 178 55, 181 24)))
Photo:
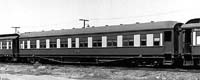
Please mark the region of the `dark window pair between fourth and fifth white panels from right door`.
POLYGON ((107 46, 108 47, 117 47, 117 36, 108 36, 107 37, 107 46))

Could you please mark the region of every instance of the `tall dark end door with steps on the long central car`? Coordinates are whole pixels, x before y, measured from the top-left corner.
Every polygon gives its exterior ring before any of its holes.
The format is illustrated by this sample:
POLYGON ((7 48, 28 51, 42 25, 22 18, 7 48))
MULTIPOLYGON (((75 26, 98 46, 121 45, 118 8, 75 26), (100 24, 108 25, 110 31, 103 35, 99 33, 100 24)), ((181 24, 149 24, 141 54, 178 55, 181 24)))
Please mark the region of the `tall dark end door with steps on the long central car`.
POLYGON ((172 62, 172 31, 165 31, 164 32, 164 64, 171 65, 172 62))

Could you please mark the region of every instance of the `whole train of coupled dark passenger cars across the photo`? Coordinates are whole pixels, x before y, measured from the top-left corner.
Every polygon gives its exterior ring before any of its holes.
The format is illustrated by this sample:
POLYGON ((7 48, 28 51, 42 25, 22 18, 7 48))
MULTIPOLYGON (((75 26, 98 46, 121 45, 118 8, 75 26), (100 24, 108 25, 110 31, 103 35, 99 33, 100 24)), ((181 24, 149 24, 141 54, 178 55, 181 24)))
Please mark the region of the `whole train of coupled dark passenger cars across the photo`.
POLYGON ((0 60, 200 65, 200 19, 0 35, 0 60))

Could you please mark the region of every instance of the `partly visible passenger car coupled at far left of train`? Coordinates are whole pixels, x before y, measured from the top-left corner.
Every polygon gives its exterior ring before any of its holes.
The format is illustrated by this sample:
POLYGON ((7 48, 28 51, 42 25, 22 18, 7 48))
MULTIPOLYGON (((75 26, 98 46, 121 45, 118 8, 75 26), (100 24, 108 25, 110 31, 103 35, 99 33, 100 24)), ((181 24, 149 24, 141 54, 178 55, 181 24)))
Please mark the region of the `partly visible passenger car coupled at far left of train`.
POLYGON ((16 61, 19 55, 19 35, 4 34, 0 35, 0 60, 16 61))

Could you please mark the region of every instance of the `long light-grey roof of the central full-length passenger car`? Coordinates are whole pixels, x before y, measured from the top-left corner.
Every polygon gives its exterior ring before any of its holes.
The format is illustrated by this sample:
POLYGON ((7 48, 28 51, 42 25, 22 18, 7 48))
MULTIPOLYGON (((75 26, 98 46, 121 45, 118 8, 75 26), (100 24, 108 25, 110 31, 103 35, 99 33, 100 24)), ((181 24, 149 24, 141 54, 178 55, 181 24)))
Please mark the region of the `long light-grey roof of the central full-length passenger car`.
POLYGON ((155 30, 155 29, 172 29, 176 21, 160 21, 151 23, 139 24, 123 24, 111 25, 90 28, 52 30, 42 32, 26 32, 20 34, 21 38, 40 37, 40 36, 57 36, 57 35, 74 35, 74 34, 91 34, 91 33, 107 33, 107 32, 123 32, 123 31, 140 31, 140 30, 155 30))

